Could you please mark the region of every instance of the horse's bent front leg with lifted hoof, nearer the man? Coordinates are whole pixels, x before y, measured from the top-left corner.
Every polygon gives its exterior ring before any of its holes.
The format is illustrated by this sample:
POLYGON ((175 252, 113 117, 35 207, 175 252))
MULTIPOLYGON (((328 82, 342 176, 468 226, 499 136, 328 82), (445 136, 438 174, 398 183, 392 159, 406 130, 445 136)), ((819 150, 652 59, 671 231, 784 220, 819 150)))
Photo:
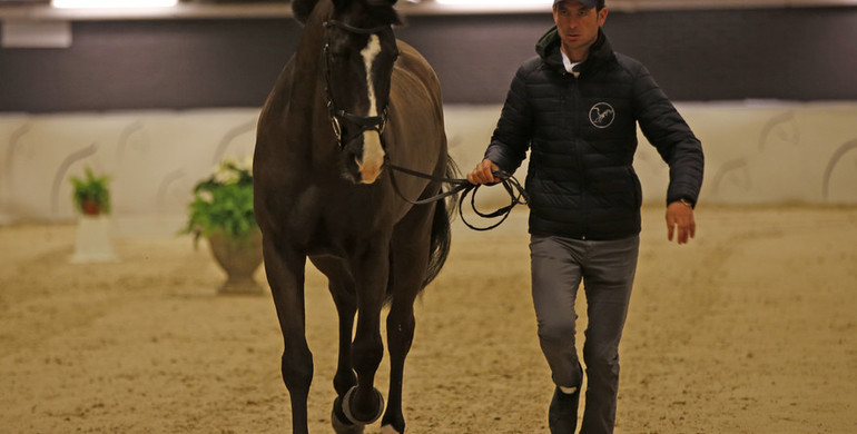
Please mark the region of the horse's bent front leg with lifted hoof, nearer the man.
POLYGON ((357 293, 357 329, 352 361, 357 386, 343 400, 343 411, 354 423, 371 424, 381 417, 384 398, 374 387, 375 372, 384 357, 381 341, 381 308, 390 272, 390 236, 381 236, 357 251, 353 262, 357 293))

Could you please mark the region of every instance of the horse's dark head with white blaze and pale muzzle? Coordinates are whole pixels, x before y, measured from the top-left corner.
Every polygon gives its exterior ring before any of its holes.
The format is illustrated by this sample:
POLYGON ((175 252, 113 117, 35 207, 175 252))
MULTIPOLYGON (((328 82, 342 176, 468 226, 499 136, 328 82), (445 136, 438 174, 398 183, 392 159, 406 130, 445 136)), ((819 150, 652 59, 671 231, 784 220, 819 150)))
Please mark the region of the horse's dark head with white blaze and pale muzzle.
POLYGON ((374 183, 384 166, 381 134, 398 57, 392 29, 400 23, 395 2, 334 0, 334 11, 324 23, 327 106, 345 176, 355 183, 374 183))

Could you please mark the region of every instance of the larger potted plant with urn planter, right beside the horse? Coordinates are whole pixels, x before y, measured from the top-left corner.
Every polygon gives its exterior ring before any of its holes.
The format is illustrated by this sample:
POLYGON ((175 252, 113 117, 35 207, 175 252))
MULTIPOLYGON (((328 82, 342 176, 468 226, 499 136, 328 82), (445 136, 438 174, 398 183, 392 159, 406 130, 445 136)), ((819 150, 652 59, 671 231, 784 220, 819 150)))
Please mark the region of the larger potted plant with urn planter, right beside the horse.
POLYGON ((227 280, 221 294, 262 293, 253 275, 262 265, 262 233, 253 214, 253 159, 225 158, 207 179, 194 187, 183 234, 208 239, 227 280))

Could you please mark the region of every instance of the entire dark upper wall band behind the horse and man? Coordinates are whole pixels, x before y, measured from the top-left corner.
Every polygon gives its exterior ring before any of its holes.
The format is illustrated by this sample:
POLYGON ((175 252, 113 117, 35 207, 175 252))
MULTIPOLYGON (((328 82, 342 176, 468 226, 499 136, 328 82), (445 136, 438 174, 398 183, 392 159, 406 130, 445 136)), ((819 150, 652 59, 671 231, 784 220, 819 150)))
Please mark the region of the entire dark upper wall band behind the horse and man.
MULTIPOLYGON (((397 30, 446 102, 502 102, 545 14, 418 16, 397 30)), ((611 12, 613 48, 674 100, 857 100, 857 8, 611 12)), ((76 21, 68 49, 0 49, 0 111, 257 107, 297 45, 290 19, 76 21)))

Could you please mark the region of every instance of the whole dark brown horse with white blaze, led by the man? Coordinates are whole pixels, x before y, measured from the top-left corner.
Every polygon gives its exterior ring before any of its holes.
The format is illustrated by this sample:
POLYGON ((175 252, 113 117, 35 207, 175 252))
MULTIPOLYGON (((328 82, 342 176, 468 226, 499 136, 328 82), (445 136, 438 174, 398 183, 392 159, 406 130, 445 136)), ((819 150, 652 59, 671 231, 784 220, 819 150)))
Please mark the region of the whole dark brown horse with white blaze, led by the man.
MULTIPOLYGON (((339 314, 334 430, 361 433, 383 413, 382 431, 403 433, 402 376, 414 335, 413 303, 449 253, 451 207, 410 204, 383 170, 390 161, 436 177, 454 171, 437 78, 416 50, 395 39, 394 3, 293 0, 303 36, 259 118, 255 210, 283 331, 282 371, 295 433, 307 432, 313 378, 306 258, 327 276, 339 314), (386 412, 374 387, 384 353, 384 304, 390 304, 386 412)), ((416 177, 396 180, 408 199, 441 188, 416 177)))

